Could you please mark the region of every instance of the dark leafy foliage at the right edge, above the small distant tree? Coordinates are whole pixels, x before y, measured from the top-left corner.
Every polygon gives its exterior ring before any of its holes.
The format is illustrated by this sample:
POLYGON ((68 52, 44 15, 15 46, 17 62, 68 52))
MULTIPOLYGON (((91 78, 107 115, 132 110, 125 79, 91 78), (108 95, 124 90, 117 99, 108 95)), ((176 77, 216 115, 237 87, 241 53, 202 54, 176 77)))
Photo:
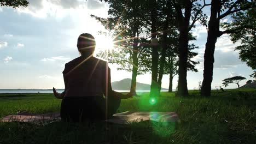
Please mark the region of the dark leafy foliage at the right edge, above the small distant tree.
POLYGON ((241 43, 235 50, 239 51, 239 57, 243 62, 256 69, 256 8, 232 15, 232 23, 224 23, 223 27, 227 31, 236 29, 236 32, 230 33, 234 43, 241 43))

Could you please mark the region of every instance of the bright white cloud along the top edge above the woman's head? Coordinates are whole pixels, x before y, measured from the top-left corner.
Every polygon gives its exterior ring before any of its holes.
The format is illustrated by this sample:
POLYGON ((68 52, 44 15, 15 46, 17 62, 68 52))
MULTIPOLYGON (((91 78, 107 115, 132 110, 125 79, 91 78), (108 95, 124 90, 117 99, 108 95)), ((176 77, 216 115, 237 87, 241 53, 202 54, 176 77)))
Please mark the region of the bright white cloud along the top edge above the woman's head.
MULTIPOLYGON (((106 2, 100 2, 98 0, 28 0, 30 4, 28 7, 19 7, 15 11, 20 13, 30 14, 34 17, 46 18, 56 17, 63 18, 70 15, 90 15, 94 14, 95 10, 97 15, 102 15, 101 9, 107 9, 108 4, 106 2), (80 11, 83 11, 80 13, 80 11), (75 14, 72 14, 74 13, 75 14)), ((107 13, 105 13, 107 14, 107 13)), ((83 17, 84 19, 84 17, 83 17)))

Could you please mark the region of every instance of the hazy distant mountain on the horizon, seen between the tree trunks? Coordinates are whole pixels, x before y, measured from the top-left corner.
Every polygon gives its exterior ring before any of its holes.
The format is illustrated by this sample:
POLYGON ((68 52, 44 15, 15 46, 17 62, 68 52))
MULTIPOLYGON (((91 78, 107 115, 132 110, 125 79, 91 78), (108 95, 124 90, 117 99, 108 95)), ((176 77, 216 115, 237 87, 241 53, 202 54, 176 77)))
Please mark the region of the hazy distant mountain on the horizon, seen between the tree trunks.
MULTIPOLYGON (((112 89, 114 90, 127 90, 130 91, 131 79, 123 79, 120 81, 114 81, 111 83, 112 89)), ((161 88, 162 90, 168 90, 166 88, 161 88)), ((146 83, 137 82, 136 90, 150 90, 150 85, 146 83)))

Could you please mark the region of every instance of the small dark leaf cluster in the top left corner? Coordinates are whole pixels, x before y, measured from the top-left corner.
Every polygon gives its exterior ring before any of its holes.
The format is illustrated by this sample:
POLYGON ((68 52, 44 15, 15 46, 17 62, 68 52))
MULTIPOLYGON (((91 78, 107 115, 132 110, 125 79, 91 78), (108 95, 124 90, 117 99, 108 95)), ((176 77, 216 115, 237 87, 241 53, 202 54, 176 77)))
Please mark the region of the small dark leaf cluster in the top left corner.
POLYGON ((1 6, 13 7, 18 8, 19 6, 27 7, 28 6, 27 0, 0 0, 1 6))

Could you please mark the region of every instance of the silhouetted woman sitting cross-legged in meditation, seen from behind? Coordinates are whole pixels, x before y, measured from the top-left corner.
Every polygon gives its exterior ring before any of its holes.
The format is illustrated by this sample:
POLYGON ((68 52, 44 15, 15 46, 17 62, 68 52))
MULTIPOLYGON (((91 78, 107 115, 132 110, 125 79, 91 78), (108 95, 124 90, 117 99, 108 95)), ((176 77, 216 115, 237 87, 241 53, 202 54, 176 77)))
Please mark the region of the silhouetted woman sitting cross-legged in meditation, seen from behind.
POLYGON ((77 41, 81 56, 66 63, 63 70, 65 91, 57 93, 61 101, 61 119, 66 122, 83 122, 86 119, 108 119, 117 111, 121 99, 131 98, 111 87, 108 63, 93 57, 95 39, 83 33, 77 41))

